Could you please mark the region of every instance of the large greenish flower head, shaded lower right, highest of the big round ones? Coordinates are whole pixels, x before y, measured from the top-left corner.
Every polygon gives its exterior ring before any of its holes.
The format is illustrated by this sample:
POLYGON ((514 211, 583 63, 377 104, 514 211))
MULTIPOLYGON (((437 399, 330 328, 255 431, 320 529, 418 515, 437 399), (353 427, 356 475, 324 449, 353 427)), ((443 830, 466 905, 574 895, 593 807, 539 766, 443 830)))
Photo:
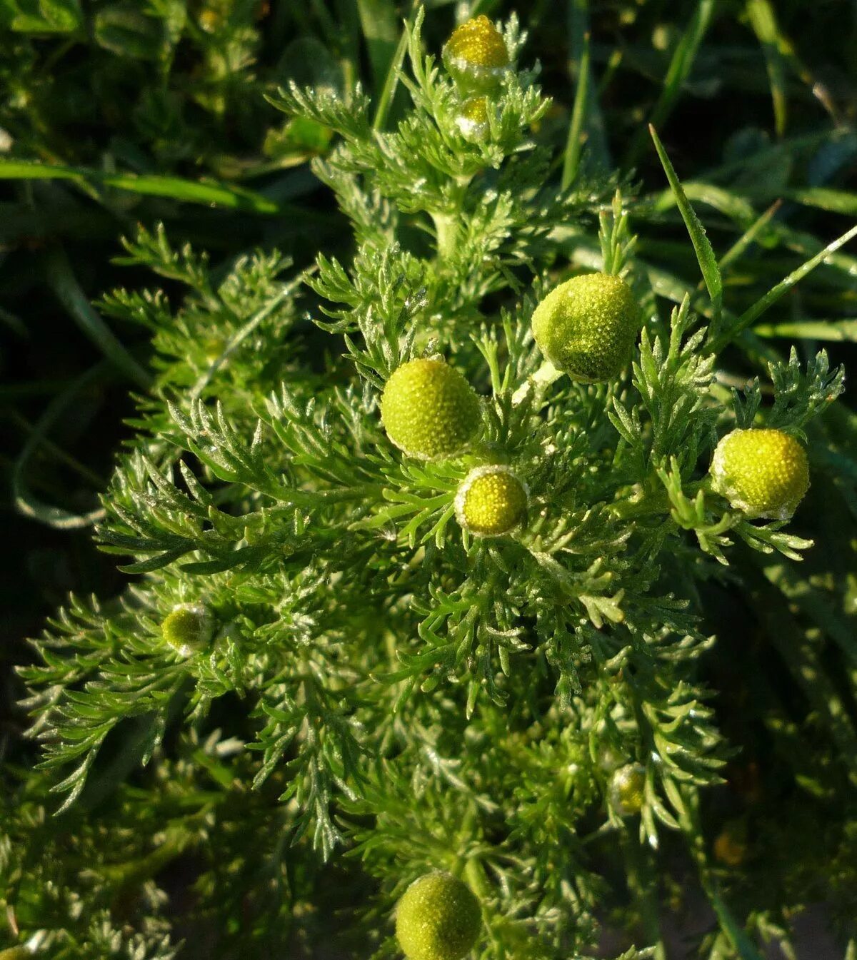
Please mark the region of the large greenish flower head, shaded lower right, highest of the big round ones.
POLYGON ((619 276, 583 274, 554 287, 532 315, 532 335, 557 370, 583 383, 612 380, 627 361, 640 308, 619 276))

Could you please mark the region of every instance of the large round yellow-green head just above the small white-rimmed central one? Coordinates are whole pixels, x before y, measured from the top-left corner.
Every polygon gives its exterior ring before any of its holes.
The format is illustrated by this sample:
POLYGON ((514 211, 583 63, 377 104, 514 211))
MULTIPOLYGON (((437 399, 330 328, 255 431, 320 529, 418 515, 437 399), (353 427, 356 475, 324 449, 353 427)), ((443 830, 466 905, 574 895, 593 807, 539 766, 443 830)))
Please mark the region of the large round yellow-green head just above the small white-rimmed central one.
POLYGON ((387 380, 380 419, 390 440, 409 457, 453 457, 481 423, 473 387, 443 360, 409 360, 387 380))

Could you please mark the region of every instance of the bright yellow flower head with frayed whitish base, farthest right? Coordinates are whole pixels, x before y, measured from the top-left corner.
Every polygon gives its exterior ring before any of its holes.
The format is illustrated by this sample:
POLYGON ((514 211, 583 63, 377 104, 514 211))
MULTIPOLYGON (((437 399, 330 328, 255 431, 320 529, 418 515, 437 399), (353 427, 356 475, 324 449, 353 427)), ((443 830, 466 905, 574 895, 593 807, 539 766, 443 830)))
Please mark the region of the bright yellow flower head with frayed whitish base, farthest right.
POLYGON ((733 430, 711 462, 714 489, 749 517, 788 520, 809 489, 806 452, 781 430, 733 430))

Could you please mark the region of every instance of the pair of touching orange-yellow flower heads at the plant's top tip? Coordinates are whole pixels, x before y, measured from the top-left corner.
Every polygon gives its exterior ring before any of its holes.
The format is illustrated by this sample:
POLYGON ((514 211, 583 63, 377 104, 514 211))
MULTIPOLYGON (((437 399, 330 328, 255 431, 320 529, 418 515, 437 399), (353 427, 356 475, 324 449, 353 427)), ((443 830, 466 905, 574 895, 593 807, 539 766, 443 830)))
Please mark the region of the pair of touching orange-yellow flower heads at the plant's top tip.
POLYGON ((511 65, 502 34, 487 16, 474 17, 453 31, 443 61, 461 98, 458 129, 469 140, 484 140, 492 96, 511 65))

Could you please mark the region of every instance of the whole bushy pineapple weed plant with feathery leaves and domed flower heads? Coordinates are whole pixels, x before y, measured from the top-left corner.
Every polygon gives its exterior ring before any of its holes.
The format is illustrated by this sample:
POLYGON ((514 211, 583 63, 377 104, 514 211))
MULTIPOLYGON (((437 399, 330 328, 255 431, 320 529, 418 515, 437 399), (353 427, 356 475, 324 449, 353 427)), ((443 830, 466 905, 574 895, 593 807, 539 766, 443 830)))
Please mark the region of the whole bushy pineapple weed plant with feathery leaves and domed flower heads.
POLYGON ((845 238, 733 310, 762 227, 718 262, 652 132, 703 277, 664 310, 633 184, 568 153, 557 182, 529 139, 517 21, 465 24, 443 65, 422 22, 393 132, 358 88, 276 98, 339 138, 313 169, 353 259, 223 278, 162 229, 127 243, 186 294, 100 303, 157 349, 98 529, 135 578, 20 670, 44 753, 4 796, 0 956, 560 958, 606 927, 631 960, 697 888, 702 955, 788 951, 823 900, 853 956, 853 638, 790 528, 810 479, 853 510, 850 415, 823 352, 750 329, 845 238), (796 768, 781 820, 703 676, 711 595, 763 612, 747 669, 809 704, 746 706, 796 768))

